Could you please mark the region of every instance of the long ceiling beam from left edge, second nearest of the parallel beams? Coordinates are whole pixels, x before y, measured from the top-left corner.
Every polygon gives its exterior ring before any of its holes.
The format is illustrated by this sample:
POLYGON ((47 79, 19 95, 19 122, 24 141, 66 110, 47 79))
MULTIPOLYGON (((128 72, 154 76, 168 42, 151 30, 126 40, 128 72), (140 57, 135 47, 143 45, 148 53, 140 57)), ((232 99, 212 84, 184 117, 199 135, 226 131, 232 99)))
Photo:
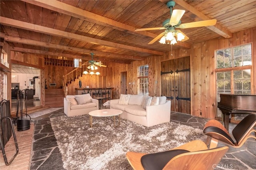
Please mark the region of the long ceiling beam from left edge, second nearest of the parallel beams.
POLYGON ((83 42, 92 43, 92 44, 96 44, 96 45, 105 45, 108 47, 126 49, 126 50, 131 50, 131 51, 138 51, 138 52, 149 53, 149 54, 153 54, 153 55, 164 55, 164 53, 160 52, 160 51, 142 49, 139 47, 133 47, 133 46, 129 46, 129 45, 113 43, 110 41, 105 41, 105 40, 96 39, 96 38, 92 38, 92 37, 86 37, 84 35, 69 33, 66 31, 61 31, 58 29, 44 27, 41 25, 36 25, 36 24, 28 23, 28 22, 19 21, 19 20, 13 20, 10 18, 5 18, 5 17, 0 17, 0 23, 2 25, 8 25, 11 27, 21 28, 21 29, 25 29, 25 30, 29 30, 29 31, 45 33, 45 34, 54 35, 54 36, 58 36, 58 37, 62 37, 62 38, 74 39, 77 41, 83 41, 83 42))

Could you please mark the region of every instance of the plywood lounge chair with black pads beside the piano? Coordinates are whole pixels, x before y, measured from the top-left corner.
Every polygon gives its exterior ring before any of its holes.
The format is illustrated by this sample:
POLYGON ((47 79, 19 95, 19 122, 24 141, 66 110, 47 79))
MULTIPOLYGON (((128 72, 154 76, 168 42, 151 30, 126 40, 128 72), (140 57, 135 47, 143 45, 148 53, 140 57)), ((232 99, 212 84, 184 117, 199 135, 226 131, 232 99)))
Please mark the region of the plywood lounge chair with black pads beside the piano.
POLYGON ((248 138, 256 139, 256 113, 251 113, 244 117, 240 123, 232 131, 232 137, 226 130, 226 128, 217 120, 210 120, 204 126, 204 134, 208 136, 209 148, 214 148, 218 145, 218 141, 226 143, 231 147, 240 148, 248 138), (253 133, 253 134, 251 134, 253 133))

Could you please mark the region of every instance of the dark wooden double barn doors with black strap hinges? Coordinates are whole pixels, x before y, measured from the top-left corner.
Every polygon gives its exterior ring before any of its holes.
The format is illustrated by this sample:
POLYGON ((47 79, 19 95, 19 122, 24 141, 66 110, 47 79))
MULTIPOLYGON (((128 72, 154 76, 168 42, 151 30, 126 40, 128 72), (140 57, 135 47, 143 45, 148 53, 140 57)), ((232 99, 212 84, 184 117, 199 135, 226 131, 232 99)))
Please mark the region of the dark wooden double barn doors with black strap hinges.
POLYGON ((190 57, 161 62, 161 84, 171 110, 190 114, 190 57))

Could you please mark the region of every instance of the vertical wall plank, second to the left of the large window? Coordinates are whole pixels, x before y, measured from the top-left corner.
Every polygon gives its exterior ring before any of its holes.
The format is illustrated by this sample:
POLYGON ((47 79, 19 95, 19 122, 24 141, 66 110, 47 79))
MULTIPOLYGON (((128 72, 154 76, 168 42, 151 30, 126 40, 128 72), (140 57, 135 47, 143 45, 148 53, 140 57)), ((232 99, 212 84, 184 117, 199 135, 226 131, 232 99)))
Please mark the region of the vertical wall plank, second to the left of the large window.
POLYGON ((201 42, 201 60, 202 60, 202 117, 208 116, 210 100, 209 72, 210 63, 208 57, 208 41, 201 42))

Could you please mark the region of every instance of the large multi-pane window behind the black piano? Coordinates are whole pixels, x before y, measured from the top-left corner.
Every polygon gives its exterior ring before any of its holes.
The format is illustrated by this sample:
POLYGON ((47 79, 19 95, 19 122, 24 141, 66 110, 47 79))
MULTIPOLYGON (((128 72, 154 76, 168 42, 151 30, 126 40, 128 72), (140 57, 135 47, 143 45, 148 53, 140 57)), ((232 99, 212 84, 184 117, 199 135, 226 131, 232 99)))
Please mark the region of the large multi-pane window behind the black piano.
MULTIPOLYGON (((251 44, 217 50, 215 55, 217 102, 220 102, 220 93, 251 94, 251 44)), ((219 109, 217 117, 222 117, 219 109)), ((235 119, 242 118, 242 115, 235 115, 235 119)))

